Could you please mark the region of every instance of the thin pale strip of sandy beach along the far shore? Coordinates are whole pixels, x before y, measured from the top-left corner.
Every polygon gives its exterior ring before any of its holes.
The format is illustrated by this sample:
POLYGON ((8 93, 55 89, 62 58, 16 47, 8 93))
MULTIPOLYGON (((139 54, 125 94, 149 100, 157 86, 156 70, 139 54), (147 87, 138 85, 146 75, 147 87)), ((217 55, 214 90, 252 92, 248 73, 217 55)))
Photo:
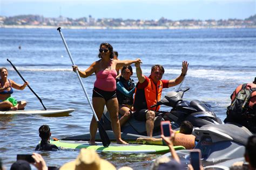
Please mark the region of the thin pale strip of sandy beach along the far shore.
MULTIPOLYGON (((179 30, 179 29, 241 29, 256 28, 255 26, 61 26, 63 29, 84 29, 84 30, 179 30)), ((57 29, 58 26, 42 25, 1 25, 0 28, 18 29, 57 29)))

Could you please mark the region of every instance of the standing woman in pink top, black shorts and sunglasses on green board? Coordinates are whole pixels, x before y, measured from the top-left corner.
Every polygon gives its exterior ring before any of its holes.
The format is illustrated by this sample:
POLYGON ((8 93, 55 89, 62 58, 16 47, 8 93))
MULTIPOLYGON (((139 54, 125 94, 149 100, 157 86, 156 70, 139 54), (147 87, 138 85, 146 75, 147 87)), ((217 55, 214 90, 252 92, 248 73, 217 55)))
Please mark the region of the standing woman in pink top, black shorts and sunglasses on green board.
MULTIPOLYGON (((113 59, 113 47, 109 43, 102 43, 99 46, 100 58, 96 62, 93 62, 91 66, 85 71, 80 71, 78 67, 72 66, 73 71, 78 70, 79 76, 86 78, 92 73, 96 74, 96 81, 92 92, 92 105, 97 114, 98 119, 102 117, 104 106, 106 105, 107 110, 110 113, 112 130, 115 134, 118 144, 127 144, 121 139, 120 124, 118 119, 118 100, 116 95, 116 77, 117 67, 131 65, 133 63, 141 63, 140 59, 136 60, 117 60, 113 59)), ((92 117, 90 124, 90 144, 96 145, 95 136, 97 132, 97 122, 92 117)))

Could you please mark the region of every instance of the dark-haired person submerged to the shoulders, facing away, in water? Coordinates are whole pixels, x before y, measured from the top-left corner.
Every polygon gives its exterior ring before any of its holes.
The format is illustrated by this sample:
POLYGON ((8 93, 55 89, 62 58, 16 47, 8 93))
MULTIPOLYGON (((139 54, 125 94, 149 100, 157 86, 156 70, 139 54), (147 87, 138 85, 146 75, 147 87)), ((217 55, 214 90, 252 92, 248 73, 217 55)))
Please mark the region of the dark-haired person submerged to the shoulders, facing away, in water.
POLYGON ((40 144, 36 146, 35 151, 58 151, 58 147, 50 144, 51 130, 48 125, 39 127, 39 137, 42 139, 40 144))

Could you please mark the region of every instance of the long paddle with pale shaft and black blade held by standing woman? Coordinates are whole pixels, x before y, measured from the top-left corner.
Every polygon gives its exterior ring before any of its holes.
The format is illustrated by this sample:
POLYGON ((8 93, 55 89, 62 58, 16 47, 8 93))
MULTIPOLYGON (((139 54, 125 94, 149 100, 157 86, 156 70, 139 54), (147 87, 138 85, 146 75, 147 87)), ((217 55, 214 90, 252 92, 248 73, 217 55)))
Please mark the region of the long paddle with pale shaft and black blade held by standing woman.
MULTIPOLYGON (((64 45, 65 45, 65 47, 66 47, 66 51, 67 51, 68 54, 69 54, 69 58, 70 58, 72 64, 73 64, 73 65, 76 65, 75 62, 74 62, 73 59, 72 59, 71 53, 70 53, 70 51, 69 51, 69 47, 68 47, 68 45, 66 45, 66 41, 65 41, 65 39, 64 39, 64 37, 63 37, 62 32, 60 31, 60 29, 61 29, 61 28, 59 27, 57 30, 59 31, 60 37, 62 37, 63 43, 64 43, 64 45)), ((98 129, 99 129, 99 135, 100 135, 100 138, 102 139, 102 144, 103 144, 103 146, 107 147, 107 146, 109 146, 109 144, 110 144, 109 136, 106 134, 106 131, 104 130, 102 124, 99 122, 99 119, 98 119, 98 117, 97 117, 97 115, 96 115, 96 113, 95 113, 95 111, 94 111, 94 109, 93 109, 93 107, 92 107, 92 104, 91 104, 91 102, 90 102, 90 99, 89 99, 89 97, 88 97, 88 94, 87 94, 87 92, 86 92, 86 90, 85 90, 83 81, 82 81, 82 79, 81 79, 80 76, 79 76, 78 70, 76 70, 76 73, 77 73, 77 77, 78 77, 78 79, 79 79, 79 81, 80 81, 80 84, 81 84, 81 86, 82 86, 82 88, 83 88, 83 91, 84 91, 84 93, 85 93, 85 96, 86 96, 86 98, 87 98, 87 100, 88 100, 88 103, 89 103, 89 105, 90 105, 90 107, 91 107, 91 110, 92 110, 92 112, 93 112, 93 115, 94 115, 94 117, 95 117, 95 119, 96 119, 96 121, 97 121, 98 129)))

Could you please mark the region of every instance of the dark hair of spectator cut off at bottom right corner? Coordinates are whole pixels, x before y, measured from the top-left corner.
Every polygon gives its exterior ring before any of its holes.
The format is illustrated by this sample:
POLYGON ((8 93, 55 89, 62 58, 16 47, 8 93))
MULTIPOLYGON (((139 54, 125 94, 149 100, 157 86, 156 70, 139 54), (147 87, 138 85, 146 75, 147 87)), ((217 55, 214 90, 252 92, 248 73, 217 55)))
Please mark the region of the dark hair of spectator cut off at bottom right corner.
POLYGON ((245 155, 248 156, 250 165, 256 168, 256 135, 252 135, 248 138, 247 144, 245 145, 245 155))

